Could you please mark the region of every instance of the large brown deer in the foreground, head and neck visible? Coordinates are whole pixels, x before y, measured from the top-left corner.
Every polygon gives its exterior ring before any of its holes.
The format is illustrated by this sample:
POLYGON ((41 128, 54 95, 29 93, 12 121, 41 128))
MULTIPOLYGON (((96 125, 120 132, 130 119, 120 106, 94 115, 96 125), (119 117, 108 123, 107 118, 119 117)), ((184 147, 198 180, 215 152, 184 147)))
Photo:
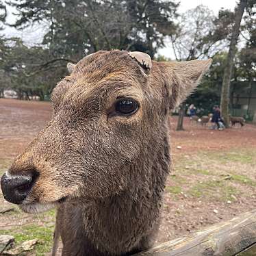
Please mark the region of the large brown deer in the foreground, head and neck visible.
POLYGON ((50 122, 1 177, 5 200, 30 214, 57 207, 63 256, 150 248, 170 173, 168 116, 211 62, 112 50, 68 64, 50 122))

